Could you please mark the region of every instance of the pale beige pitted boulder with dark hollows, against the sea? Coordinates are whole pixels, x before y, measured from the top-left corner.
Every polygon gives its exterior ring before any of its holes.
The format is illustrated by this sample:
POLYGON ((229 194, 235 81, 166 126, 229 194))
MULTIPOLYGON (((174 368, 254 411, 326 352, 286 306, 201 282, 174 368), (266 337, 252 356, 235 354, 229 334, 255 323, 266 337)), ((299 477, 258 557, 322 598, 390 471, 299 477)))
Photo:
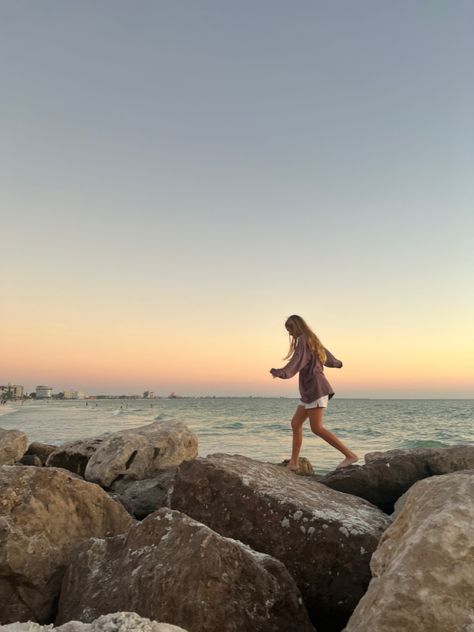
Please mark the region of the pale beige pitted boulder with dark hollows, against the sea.
POLYGON ((157 470, 197 456, 198 440, 179 421, 154 422, 109 436, 94 452, 85 478, 110 487, 119 477, 149 478, 157 470))

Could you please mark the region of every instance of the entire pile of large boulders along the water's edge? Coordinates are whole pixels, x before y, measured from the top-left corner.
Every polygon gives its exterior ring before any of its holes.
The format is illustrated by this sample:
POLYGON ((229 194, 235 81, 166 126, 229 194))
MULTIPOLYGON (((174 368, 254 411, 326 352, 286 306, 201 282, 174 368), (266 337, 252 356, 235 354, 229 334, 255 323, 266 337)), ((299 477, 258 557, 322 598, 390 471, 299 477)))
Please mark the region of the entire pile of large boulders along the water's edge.
POLYGON ((0 631, 474 632, 474 446, 318 477, 178 422, 27 445, 0 431, 0 631))

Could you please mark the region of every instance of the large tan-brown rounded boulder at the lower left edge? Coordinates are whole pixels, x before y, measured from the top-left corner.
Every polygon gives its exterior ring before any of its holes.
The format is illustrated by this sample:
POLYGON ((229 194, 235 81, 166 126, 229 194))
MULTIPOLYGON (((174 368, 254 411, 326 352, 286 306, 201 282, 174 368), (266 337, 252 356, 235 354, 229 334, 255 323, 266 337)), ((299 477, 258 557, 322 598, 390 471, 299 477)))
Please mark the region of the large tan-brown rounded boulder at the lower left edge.
POLYGON ((98 485, 64 470, 1 467, 0 623, 49 623, 74 548, 132 523, 98 485))

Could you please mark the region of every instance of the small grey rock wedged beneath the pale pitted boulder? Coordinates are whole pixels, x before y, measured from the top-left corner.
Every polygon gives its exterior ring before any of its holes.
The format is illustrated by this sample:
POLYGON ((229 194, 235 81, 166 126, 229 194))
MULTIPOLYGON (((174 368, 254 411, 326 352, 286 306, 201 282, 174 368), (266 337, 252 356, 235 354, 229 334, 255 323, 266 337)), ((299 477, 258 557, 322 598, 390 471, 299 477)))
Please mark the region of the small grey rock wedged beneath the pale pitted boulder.
POLYGON ((141 481, 119 479, 112 484, 109 493, 132 516, 143 520, 157 509, 170 506, 175 474, 176 468, 170 467, 141 481))

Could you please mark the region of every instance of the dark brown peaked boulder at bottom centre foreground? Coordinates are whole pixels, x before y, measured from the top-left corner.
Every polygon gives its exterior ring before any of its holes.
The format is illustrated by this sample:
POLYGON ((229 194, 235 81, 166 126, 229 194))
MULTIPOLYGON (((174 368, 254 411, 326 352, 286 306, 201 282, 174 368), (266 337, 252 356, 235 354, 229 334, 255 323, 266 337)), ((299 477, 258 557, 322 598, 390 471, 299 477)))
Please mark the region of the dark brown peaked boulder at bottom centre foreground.
POLYGON ((71 560, 56 623, 116 610, 190 632, 313 631, 283 564, 166 508, 71 560))

